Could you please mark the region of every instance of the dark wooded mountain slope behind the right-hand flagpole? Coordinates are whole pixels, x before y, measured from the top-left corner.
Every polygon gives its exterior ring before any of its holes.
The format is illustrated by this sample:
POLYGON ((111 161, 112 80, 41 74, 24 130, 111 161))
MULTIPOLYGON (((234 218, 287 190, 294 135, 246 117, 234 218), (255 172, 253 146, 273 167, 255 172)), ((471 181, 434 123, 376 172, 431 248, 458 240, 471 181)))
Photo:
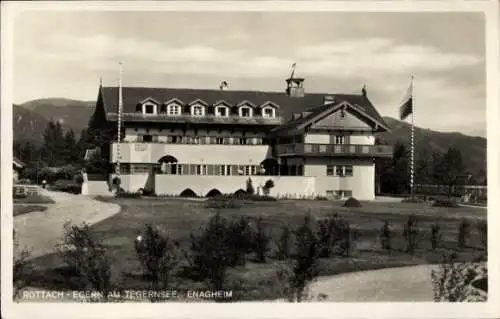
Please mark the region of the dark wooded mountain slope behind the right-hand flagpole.
MULTIPOLYGON (((411 124, 398 121, 391 117, 384 117, 391 132, 379 134, 379 137, 387 143, 394 145, 401 141, 410 145, 411 124)), ((444 133, 415 126, 415 157, 425 154, 432 155, 433 152, 446 152, 449 147, 456 148, 462 153, 462 160, 471 173, 480 170, 486 172, 486 139, 477 136, 468 136, 462 133, 444 133)))

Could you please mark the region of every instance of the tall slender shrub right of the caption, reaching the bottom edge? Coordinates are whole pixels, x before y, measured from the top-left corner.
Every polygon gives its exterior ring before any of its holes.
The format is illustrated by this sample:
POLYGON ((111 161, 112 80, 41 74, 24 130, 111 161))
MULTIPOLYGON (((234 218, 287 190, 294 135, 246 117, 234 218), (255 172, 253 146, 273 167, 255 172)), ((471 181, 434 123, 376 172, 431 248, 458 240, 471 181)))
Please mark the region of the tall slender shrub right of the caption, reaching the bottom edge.
POLYGON ((295 256, 287 268, 278 271, 283 292, 289 301, 301 302, 306 296, 306 287, 319 274, 319 243, 307 215, 304 224, 294 231, 295 256))

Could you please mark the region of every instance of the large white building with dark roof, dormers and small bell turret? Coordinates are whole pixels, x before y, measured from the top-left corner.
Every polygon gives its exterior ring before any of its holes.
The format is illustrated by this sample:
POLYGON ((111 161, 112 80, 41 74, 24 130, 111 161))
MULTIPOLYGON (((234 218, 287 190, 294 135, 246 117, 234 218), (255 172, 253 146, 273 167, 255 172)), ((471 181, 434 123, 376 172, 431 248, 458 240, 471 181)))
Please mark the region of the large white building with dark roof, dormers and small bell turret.
POLYGON ((364 88, 309 94, 303 83, 291 77, 283 93, 101 86, 93 121, 116 133, 120 120, 120 143, 115 134, 103 154, 119 162, 125 191, 205 196, 251 178, 259 192, 271 179, 273 196, 373 199, 374 160, 392 156, 374 134, 387 124, 364 88))

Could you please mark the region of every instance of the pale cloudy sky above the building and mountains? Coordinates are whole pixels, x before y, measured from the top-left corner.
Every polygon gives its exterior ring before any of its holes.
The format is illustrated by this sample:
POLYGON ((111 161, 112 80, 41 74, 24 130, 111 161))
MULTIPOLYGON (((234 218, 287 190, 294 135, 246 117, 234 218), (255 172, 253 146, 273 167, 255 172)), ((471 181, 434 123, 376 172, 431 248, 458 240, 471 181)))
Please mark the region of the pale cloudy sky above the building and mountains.
MULTIPOLYGON (((481 13, 23 12, 14 25, 14 102, 95 100, 103 85, 360 93, 382 116, 414 75, 415 124, 486 136, 481 13)), ((284 107, 284 106, 282 106, 284 107)))

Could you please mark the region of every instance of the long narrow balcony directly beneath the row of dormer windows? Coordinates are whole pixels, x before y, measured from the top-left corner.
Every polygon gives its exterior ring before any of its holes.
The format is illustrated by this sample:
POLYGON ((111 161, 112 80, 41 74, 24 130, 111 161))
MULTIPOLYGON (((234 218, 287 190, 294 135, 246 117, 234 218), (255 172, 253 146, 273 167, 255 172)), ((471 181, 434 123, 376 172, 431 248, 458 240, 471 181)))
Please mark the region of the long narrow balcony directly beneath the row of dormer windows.
MULTIPOLYGON (((116 121, 117 113, 108 113, 108 121, 116 121)), ((156 123, 190 123, 190 124, 247 124, 247 125, 281 125, 283 118, 277 117, 241 117, 237 115, 215 116, 213 114, 204 116, 193 115, 168 115, 168 114, 142 114, 123 113, 122 121, 130 122, 156 122, 156 123)))

